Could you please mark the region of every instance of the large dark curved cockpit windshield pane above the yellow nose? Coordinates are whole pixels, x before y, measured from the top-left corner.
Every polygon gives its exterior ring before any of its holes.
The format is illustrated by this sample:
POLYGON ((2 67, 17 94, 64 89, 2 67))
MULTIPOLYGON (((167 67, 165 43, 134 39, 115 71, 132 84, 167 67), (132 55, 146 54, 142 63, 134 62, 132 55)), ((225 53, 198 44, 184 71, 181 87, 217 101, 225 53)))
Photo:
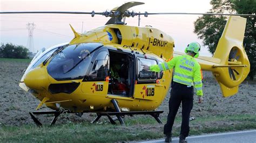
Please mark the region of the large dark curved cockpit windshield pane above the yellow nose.
POLYGON ((67 45, 52 58, 48 73, 56 80, 83 79, 93 52, 101 46, 99 43, 67 45))

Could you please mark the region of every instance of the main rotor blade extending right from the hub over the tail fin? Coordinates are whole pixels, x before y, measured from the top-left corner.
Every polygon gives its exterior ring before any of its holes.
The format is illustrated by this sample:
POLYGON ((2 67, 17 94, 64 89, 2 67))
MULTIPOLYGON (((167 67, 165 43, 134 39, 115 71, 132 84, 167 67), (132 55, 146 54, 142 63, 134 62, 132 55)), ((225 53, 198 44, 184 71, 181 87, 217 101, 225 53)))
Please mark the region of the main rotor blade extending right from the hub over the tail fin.
POLYGON ((156 13, 136 13, 136 15, 220 15, 220 16, 253 16, 256 15, 249 15, 249 14, 232 14, 232 13, 186 13, 186 12, 156 12, 156 13))

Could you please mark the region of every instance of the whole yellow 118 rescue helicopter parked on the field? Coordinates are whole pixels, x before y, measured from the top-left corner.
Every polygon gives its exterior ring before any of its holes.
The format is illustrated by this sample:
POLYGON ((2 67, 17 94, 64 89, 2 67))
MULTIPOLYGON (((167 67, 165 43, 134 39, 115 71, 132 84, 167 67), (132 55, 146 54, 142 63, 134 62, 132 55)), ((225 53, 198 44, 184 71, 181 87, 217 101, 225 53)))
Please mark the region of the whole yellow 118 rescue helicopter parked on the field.
MULTIPOLYGON (((85 112, 97 113, 96 122, 106 115, 116 115, 120 124, 122 117, 133 114, 150 114, 159 123, 156 108, 163 102, 172 81, 172 70, 156 73, 143 70, 142 65, 155 65, 173 56, 171 36, 151 26, 138 27, 125 24, 126 17, 158 14, 202 13, 136 13, 128 11, 140 2, 128 2, 105 12, 0 12, 0 13, 82 13, 111 17, 104 25, 84 34, 71 29, 75 35, 69 43, 50 47, 37 53, 19 83, 43 104, 55 111, 30 113, 37 125, 41 122, 34 114, 59 114, 85 112), (64 109, 64 110, 60 110, 64 109)), ((225 15, 203 13, 205 15, 225 15)), ((251 16, 251 15, 240 15, 251 16)), ((246 18, 230 16, 223 35, 219 39, 213 57, 197 58, 202 70, 212 71, 220 84, 224 97, 238 92, 238 86, 250 72, 250 63, 242 45, 246 18)))

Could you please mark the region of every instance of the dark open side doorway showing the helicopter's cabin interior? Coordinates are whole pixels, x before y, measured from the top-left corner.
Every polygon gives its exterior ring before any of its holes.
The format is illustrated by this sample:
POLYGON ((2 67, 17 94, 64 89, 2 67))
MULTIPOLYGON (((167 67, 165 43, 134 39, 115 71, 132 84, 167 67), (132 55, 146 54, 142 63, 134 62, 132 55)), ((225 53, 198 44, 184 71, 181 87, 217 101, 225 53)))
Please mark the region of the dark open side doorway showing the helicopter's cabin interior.
POLYGON ((129 97, 130 96, 130 70, 129 57, 124 53, 110 51, 110 85, 109 93, 129 97))

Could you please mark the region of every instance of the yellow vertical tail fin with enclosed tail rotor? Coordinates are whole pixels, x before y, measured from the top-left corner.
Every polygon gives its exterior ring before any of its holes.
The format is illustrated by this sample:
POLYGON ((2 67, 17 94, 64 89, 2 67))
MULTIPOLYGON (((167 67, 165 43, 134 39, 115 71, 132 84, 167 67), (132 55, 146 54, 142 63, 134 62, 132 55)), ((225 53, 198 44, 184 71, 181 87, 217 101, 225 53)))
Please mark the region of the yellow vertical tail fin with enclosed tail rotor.
POLYGON ((250 63, 242 45, 245 26, 246 18, 230 16, 213 55, 213 58, 220 59, 212 72, 224 97, 237 93, 239 84, 250 72, 250 63))

